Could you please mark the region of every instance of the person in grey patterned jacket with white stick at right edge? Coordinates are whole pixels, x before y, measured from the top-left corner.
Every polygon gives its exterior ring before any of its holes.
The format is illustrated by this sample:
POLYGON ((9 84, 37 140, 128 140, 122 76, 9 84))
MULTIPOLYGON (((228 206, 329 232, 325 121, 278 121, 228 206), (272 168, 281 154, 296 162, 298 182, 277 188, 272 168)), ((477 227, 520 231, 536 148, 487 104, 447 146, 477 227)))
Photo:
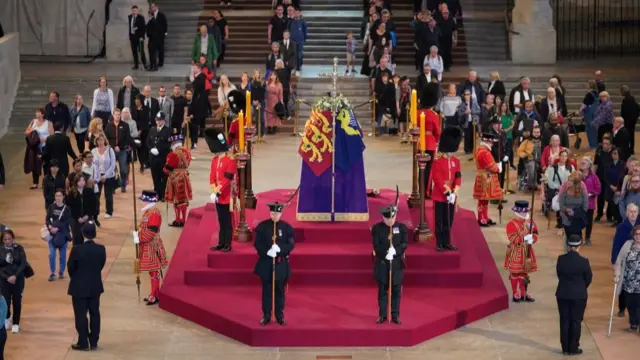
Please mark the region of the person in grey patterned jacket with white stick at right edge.
POLYGON ((629 331, 637 332, 640 325, 640 227, 633 228, 633 238, 622 245, 614 266, 616 295, 625 292, 629 311, 629 331))

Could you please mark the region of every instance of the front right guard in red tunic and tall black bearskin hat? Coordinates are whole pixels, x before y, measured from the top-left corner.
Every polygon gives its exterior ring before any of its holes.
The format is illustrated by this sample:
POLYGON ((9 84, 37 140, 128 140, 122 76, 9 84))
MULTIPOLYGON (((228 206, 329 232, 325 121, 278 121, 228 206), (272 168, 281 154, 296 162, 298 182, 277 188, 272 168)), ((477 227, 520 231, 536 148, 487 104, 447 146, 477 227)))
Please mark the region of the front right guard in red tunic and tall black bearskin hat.
POLYGON ((451 244, 451 226, 455 214, 458 189, 462 184, 460 159, 455 157, 462 141, 457 127, 445 128, 438 144, 438 157, 433 161, 430 188, 436 220, 436 251, 457 250, 451 244))

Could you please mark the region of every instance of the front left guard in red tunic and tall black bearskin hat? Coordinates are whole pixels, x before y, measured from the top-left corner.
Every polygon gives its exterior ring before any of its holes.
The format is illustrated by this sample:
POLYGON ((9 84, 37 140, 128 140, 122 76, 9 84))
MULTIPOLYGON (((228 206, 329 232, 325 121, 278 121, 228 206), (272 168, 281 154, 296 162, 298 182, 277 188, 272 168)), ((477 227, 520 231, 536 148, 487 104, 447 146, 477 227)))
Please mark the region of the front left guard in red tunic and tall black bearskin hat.
POLYGON ((233 222, 231 218, 232 189, 237 177, 236 160, 227 152, 229 145, 224 134, 214 128, 205 130, 204 138, 209 150, 213 153, 209 184, 211 185, 211 201, 216 204, 218 213, 218 245, 211 248, 216 251, 231 251, 233 239, 233 222))

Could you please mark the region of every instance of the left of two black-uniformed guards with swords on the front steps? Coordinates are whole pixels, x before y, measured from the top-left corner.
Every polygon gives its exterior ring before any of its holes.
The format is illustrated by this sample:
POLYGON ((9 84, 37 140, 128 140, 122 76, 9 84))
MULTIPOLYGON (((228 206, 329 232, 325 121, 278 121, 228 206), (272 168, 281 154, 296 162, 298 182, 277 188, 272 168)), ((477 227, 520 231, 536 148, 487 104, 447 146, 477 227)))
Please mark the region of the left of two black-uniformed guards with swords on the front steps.
POLYGON ((284 320, 284 288, 291 275, 289 255, 294 248, 293 227, 280 220, 285 204, 267 204, 271 219, 263 220, 254 230, 253 246, 258 252, 258 262, 253 271, 262 280, 262 320, 260 325, 271 322, 272 275, 275 272, 274 315, 280 325, 284 320))

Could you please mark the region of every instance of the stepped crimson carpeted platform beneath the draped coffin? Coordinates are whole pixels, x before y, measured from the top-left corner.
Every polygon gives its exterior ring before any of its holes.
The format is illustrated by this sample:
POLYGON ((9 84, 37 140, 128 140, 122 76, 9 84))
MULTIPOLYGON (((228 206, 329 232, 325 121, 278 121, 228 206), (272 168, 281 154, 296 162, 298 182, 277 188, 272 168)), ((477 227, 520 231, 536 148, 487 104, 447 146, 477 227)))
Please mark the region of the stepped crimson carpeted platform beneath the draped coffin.
MULTIPOLYGON (((266 203, 283 202, 290 194, 286 189, 259 194, 258 209, 247 214, 249 225, 268 218, 266 203)), ((369 229, 394 197, 394 191, 383 190, 370 198, 368 223, 297 222, 295 206, 286 208, 283 219, 296 229, 296 248, 284 327, 258 324, 261 288, 253 274, 253 244, 234 243, 230 253, 210 251, 217 244, 215 207, 193 209, 165 276, 160 307, 251 346, 289 347, 412 346, 508 308, 507 291, 475 215, 459 209, 453 243, 460 251, 437 253, 433 242, 411 242, 403 323, 376 325, 369 229)), ((398 220, 413 230, 418 215, 403 196, 398 220)))

